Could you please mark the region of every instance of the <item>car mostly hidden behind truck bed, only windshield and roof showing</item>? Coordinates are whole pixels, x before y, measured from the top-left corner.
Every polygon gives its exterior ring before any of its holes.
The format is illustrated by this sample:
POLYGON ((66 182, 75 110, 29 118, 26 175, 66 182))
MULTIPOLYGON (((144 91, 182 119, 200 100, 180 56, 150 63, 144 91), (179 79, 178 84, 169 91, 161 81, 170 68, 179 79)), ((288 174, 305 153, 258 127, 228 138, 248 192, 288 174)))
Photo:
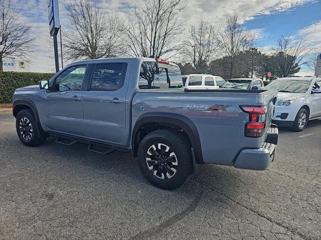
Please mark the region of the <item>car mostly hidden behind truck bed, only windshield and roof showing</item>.
POLYGON ((264 86, 260 78, 232 78, 227 80, 221 88, 237 88, 237 89, 261 89, 264 86))

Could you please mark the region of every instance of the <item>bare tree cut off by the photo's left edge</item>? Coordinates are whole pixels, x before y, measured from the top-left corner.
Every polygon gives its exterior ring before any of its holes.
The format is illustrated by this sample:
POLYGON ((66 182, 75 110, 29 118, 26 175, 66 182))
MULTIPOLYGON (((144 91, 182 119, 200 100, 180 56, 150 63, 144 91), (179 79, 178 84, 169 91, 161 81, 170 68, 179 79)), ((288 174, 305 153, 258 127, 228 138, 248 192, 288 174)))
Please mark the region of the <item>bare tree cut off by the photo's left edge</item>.
POLYGON ((23 21, 11 0, 0 0, 0 12, 0 71, 3 71, 3 58, 29 55, 36 37, 32 34, 32 25, 23 21))

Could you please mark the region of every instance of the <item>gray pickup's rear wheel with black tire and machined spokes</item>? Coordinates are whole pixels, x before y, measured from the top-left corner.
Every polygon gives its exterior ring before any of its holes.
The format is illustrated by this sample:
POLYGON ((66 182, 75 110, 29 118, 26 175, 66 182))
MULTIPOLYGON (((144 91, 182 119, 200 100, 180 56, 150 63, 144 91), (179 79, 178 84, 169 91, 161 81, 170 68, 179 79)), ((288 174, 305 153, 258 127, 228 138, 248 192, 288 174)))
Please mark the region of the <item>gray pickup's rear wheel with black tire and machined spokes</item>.
POLYGON ((151 184, 163 189, 178 188, 192 172, 189 142, 175 130, 150 132, 139 144, 138 164, 151 184))

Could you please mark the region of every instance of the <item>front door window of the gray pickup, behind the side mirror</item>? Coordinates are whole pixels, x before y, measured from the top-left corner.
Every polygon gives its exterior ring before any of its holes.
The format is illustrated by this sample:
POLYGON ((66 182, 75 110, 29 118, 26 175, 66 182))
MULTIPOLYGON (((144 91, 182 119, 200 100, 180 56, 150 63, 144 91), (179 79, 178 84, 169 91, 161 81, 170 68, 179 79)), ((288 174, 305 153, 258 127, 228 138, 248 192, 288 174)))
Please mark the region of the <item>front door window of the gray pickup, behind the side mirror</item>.
POLYGON ((80 90, 86 65, 72 66, 63 71, 55 80, 54 91, 80 90))

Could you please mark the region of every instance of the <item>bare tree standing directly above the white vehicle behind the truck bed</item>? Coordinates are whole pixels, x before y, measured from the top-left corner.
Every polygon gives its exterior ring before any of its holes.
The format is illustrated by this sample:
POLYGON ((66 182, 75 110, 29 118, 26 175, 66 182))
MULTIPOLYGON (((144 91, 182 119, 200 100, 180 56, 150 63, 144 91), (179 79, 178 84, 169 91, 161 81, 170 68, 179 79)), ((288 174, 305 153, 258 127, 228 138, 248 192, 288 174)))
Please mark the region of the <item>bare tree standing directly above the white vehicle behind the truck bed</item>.
POLYGON ((219 43, 216 33, 215 27, 206 25, 204 20, 200 20, 197 26, 190 27, 190 39, 184 42, 182 54, 194 63, 198 73, 204 73, 210 61, 218 55, 219 43))

